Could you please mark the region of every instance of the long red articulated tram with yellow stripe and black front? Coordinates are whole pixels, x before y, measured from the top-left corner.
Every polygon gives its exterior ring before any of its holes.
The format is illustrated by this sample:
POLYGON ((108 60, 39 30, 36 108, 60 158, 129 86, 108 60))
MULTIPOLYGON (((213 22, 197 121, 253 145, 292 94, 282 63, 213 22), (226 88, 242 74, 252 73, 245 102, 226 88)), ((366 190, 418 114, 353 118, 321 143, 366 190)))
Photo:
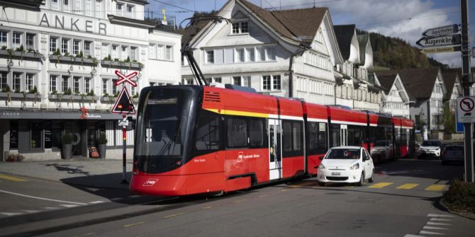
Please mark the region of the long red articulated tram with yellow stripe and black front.
POLYGON ((148 87, 140 93, 130 191, 241 190, 316 175, 329 147, 365 146, 383 161, 410 155, 411 144, 413 121, 403 118, 228 88, 148 87))

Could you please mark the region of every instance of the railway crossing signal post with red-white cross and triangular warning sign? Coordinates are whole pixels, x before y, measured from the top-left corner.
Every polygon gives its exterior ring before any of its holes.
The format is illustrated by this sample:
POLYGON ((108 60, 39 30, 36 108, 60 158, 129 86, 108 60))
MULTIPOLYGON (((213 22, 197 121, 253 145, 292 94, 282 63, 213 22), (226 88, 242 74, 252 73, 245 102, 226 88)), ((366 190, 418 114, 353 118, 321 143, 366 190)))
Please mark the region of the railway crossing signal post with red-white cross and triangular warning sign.
POLYGON ((118 113, 122 115, 123 120, 119 122, 119 126, 122 126, 122 144, 123 144, 123 149, 122 149, 122 182, 121 183, 128 183, 127 179, 125 177, 125 158, 126 158, 126 146, 127 146, 127 126, 128 126, 128 120, 127 120, 127 115, 135 115, 135 107, 132 103, 132 100, 130 99, 130 95, 127 91, 127 88, 125 88, 125 83, 130 83, 131 86, 135 87, 137 86, 137 83, 135 81, 132 81, 133 77, 137 76, 137 71, 134 71, 131 74, 124 75, 121 73, 121 71, 116 70, 116 75, 120 78, 116 81, 116 86, 124 83, 124 86, 122 88, 121 93, 117 97, 116 103, 114 103, 111 112, 112 113, 118 113))

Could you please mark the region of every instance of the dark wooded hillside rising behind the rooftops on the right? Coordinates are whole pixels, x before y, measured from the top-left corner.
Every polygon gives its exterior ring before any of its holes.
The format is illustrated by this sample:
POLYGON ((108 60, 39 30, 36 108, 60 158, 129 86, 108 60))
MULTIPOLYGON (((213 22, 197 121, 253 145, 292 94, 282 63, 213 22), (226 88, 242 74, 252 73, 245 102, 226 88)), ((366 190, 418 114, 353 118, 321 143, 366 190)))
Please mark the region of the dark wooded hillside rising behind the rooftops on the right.
MULTIPOLYGON (((357 30, 357 34, 367 33, 357 30)), ((369 33, 374 54, 375 68, 403 69, 413 67, 440 67, 447 65, 421 54, 417 47, 395 37, 388 37, 379 33, 369 33)))

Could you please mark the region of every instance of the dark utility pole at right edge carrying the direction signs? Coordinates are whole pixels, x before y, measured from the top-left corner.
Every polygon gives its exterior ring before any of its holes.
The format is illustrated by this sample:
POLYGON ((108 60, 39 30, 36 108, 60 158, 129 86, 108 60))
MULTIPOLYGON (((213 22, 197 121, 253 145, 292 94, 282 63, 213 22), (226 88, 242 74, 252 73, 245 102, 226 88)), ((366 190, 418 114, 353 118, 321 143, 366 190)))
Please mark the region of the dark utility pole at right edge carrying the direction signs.
MULTIPOLYGON (((470 96, 470 86, 473 83, 470 70, 470 45, 469 45, 469 0, 460 0, 460 15, 462 23, 462 83, 464 96, 470 96)), ((465 175, 467 183, 474 183, 474 151, 472 143, 472 124, 464 123, 465 146, 465 175)))

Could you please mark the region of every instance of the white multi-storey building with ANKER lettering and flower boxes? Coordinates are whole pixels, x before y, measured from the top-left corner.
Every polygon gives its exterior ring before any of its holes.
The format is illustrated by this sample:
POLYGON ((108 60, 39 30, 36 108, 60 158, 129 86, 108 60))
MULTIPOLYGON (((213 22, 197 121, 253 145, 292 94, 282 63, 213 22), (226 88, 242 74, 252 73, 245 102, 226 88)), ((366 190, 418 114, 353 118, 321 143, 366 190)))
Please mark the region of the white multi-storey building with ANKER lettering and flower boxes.
MULTIPOLYGON (((177 81, 180 35, 153 30, 155 24, 144 21, 144 0, 0 4, 1 156, 59 157, 68 132, 73 156, 88 156, 106 134, 108 157, 120 158, 121 115, 109 112, 123 86, 115 85, 115 71, 138 72, 138 88, 127 86, 137 96, 152 83, 177 81)), ((133 145, 132 131, 127 144, 133 145)))

